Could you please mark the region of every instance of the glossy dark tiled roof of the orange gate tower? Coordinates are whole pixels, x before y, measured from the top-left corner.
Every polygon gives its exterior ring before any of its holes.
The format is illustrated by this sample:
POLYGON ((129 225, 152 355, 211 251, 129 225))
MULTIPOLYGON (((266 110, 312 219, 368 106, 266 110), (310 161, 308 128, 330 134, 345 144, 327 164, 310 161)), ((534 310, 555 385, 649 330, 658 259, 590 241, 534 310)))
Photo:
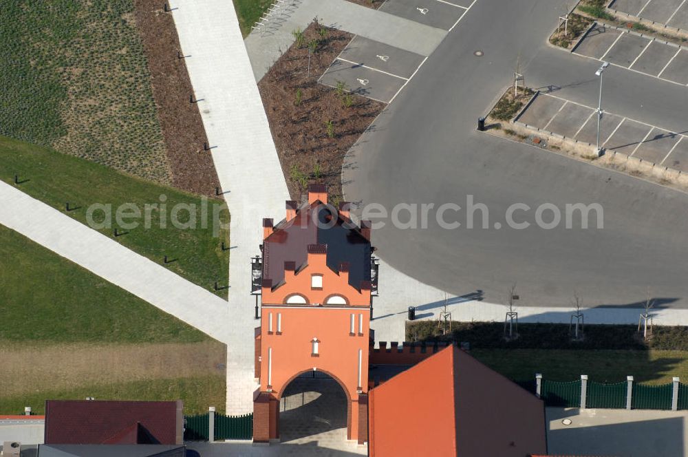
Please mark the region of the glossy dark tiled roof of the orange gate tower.
POLYGON ((326 252, 327 266, 332 271, 339 272, 342 264, 348 264, 349 284, 361 289, 363 282, 366 287, 370 281, 370 242, 350 220, 338 215, 334 221, 332 217, 330 209, 314 202, 299 209, 292 220, 278 224, 264 241, 264 280, 271 280, 272 285, 281 284, 285 262, 294 262, 299 270, 309 252, 326 252))

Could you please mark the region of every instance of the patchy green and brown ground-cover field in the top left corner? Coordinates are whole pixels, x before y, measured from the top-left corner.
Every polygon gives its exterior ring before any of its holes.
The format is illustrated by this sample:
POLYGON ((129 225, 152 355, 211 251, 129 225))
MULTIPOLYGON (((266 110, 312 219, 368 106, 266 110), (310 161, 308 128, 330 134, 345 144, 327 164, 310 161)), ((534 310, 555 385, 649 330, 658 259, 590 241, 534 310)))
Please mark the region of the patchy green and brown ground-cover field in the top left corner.
POLYGON ((133 0, 3 1, 0 135, 171 184, 133 17, 133 0))

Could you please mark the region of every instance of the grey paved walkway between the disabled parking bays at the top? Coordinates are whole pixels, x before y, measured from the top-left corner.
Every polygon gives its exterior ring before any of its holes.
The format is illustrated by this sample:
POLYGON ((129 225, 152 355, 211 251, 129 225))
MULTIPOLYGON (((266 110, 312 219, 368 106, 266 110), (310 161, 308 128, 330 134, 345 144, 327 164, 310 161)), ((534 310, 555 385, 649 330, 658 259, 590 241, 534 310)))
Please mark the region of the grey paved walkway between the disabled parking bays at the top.
POLYGON ((346 0, 291 0, 275 25, 264 34, 254 30, 246 37, 256 81, 266 74, 279 56, 294 43, 292 32, 308 27, 314 18, 322 25, 345 30, 400 49, 429 56, 440 44, 445 30, 410 21, 346 0))

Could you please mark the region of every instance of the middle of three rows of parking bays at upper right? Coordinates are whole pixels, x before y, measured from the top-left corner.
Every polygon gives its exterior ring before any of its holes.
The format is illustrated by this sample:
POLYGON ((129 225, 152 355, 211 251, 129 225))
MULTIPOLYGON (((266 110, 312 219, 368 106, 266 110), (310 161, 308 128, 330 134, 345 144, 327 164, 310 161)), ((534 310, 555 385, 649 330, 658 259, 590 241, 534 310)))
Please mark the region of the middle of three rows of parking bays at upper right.
POLYGON ((596 23, 573 52, 664 81, 688 85, 688 48, 634 32, 596 23))

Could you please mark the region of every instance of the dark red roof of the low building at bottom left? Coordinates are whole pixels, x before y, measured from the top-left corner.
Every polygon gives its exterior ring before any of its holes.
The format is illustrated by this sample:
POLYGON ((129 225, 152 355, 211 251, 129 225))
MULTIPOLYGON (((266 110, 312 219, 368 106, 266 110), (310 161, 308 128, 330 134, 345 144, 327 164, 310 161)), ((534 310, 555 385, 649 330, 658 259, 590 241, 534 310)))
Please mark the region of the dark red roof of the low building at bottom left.
POLYGON ((45 402, 46 444, 182 444, 182 401, 45 402))

